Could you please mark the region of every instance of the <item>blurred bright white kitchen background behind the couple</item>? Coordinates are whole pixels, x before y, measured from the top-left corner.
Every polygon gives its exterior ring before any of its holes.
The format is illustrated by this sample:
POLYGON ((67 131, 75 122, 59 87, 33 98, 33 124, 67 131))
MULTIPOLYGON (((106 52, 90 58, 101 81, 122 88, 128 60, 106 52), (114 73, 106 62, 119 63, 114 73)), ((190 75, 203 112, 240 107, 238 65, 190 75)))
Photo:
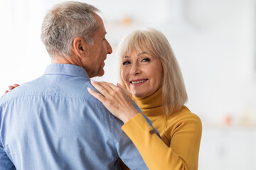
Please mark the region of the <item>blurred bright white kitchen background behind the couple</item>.
MULTIPOLYGON (((81 0, 82 1, 82 0, 81 0)), ((50 57, 40 39, 46 12, 61 1, 0 2, 0 94, 40 77, 50 57)), ((98 81, 118 81, 115 50, 136 28, 168 38, 203 121, 201 170, 256 169, 256 0, 88 0, 102 11, 113 48, 98 81)))

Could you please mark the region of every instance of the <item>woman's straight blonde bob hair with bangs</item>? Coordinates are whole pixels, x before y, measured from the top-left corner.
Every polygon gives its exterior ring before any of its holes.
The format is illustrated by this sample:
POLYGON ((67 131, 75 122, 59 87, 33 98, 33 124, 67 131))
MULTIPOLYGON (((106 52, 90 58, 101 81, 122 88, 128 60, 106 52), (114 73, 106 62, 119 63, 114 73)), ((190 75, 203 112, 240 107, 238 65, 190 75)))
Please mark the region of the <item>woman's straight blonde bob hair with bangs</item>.
MULTIPOLYGON (((181 69, 167 38, 153 28, 134 30, 124 37, 119 43, 119 47, 117 47, 119 60, 122 60, 125 55, 130 55, 132 50, 146 52, 153 57, 159 58, 164 70, 162 82, 163 113, 167 115, 181 110, 188 96, 181 69)), ((120 71, 121 69, 122 63, 120 71)), ((124 84, 123 81, 122 84, 124 84)))

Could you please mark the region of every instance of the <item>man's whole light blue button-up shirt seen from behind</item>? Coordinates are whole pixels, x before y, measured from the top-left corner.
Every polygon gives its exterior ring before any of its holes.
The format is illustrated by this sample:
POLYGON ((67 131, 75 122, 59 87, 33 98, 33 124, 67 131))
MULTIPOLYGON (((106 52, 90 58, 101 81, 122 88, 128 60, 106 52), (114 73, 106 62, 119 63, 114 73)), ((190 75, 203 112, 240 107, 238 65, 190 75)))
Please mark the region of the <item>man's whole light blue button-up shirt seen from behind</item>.
POLYGON ((87 87, 94 89, 82 67, 50 64, 2 96, 0 170, 120 169, 119 157, 130 169, 147 169, 123 123, 87 87))

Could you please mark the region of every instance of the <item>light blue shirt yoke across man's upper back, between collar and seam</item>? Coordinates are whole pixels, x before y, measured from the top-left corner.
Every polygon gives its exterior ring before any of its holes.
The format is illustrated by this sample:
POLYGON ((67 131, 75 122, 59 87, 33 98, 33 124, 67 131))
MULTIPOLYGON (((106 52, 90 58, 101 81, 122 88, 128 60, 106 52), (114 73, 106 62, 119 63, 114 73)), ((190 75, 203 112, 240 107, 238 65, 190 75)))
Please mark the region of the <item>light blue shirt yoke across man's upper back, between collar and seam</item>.
POLYGON ((94 89, 90 84, 90 79, 82 77, 38 77, 28 81, 21 86, 9 91, 1 97, 0 103, 10 101, 14 98, 26 98, 29 96, 51 97, 51 98, 77 98, 90 101, 97 105, 102 105, 100 101, 91 96, 87 87, 94 89))

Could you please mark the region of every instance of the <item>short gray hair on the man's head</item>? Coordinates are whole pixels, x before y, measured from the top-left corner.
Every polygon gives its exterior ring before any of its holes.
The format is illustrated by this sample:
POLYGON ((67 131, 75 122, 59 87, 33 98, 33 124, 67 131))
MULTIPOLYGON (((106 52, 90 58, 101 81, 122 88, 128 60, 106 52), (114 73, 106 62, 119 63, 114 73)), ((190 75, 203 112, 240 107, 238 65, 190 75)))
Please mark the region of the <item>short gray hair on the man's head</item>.
POLYGON ((43 19, 41 40, 50 57, 70 55, 73 40, 80 36, 88 44, 98 25, 93 13, 100 12, 90 4, 66 1, 53 6, 43 19))

